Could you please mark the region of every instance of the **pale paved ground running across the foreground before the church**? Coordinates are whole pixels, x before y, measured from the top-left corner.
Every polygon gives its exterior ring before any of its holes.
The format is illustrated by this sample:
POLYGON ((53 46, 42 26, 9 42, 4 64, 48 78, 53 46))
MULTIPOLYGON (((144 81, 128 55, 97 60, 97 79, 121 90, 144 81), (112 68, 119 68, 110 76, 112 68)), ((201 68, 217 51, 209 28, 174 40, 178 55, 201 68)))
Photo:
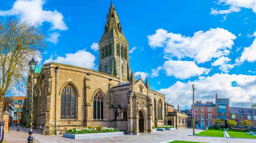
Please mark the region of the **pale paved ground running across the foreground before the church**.
MULTIPOLYGON (((6 140, 9 143, 27 143, 28 129, 25 130, 21 127, 20 132, 16 131, 17 126, 6 135, 6 140), (16 128, 15 128, 16 127, 16 128)), ((73 140, 62 137, 62 135, 42 135, 42 132, 34 130, 34 143, 167 143, 172 140, 180 141, 196 141, 208 143, 255 143, 255 139, 231 139, 224 137, 203 137, 203 136, 189 136, 192 129, 179 129, 174 131, 158 131, 153 133, 140 133, 140 135, 124 135, 119 137, 105 137, 91 140, 73 140)), ((195 132, 201 130, 195 129, 195 132)))

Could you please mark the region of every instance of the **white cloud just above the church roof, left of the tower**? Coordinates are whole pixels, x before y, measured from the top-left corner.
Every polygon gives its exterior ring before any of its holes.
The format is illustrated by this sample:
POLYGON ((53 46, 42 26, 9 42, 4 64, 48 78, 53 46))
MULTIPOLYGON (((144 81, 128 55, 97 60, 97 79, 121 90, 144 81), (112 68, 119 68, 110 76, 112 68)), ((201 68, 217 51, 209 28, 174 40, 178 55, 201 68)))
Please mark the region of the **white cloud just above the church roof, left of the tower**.
POLYGON ((65 54, 65 57, 57 56, 55 59, 53 59, 53 55, 51 55, 51 57, 45 60, 44 63, 56 62, 88 69, 95 69, 94 61, 95 56, 84 49, 78 50, 76 53, 67 53, 65 54))

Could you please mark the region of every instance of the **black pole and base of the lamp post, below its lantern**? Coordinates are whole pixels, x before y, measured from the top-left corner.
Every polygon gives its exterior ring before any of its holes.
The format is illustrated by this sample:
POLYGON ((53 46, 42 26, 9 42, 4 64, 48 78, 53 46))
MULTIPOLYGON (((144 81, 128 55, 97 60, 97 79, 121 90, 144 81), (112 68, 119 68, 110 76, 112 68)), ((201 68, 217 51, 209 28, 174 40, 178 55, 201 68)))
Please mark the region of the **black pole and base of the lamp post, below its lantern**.
POLYGON ((34 77, 34 71, 31 71, 31 108, 30 108, 30 126, 29 126, 29 131, 28 131, 28 138, 27 142, 28 143, 33 143, 33 129, 32 129, 32 118, 33 118, 33 88, 34 88, 34 83, 33 83, 33 77, 34 77))

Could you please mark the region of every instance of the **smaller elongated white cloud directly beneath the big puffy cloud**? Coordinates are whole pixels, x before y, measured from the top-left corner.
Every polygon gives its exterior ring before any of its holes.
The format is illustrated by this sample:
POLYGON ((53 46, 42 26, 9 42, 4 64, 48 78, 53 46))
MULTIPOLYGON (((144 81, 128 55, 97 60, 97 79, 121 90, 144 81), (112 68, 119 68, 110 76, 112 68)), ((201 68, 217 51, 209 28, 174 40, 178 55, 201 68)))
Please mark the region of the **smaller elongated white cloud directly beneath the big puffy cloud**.
POLYGON ((166 71, 167 76, 175 76, 178 79, 187 79, 192 76, 199 76, 208 74, 211 69, 198 67, 194 61, 165 61, 163 70, 166 71))

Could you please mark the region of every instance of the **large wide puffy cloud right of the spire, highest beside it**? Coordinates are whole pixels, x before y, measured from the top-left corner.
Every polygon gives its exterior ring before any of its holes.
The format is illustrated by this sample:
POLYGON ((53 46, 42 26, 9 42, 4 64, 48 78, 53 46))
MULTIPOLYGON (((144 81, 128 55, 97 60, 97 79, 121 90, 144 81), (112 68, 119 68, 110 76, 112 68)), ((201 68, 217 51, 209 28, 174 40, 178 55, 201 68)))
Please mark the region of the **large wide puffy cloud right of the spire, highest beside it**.
POLYGON ((151 48, 163 47, 164 52, 177 57, 193 58, 197 63, 210 61, 229 55, 236 36, 222 28, 208 31, 197 31, 193 37, 181 34, 168 33, 164 29, 157 29, 153 35, 148 35, 148 44, 151 48))

